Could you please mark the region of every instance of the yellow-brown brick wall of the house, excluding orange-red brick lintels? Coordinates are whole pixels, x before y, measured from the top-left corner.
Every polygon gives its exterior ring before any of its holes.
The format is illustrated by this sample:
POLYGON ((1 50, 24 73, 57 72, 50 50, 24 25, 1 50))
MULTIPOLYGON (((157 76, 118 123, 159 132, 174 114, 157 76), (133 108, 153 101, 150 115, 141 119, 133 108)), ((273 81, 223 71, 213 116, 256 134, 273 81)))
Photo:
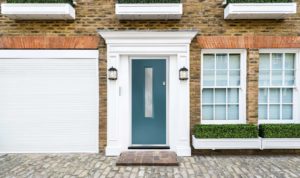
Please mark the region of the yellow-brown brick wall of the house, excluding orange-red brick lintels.
MULTIPOLYGON (((0 16, 0 36, 95 36, 98 29, 109 30, 197 30, 199 36, 300 36, 300 13, 285 20, 224 20, 223 0, 183 0, 181 20, 119 21, 114 13, 115 0, 78 0, 75 21, 14 21, 0 16)), ((300 12, 300 0, 298 12, 300 12)), ((239 41, 239 38, 237 38, 239 41)), ((262 46, 266 40, 261 39, 262 46)), ((285 41, 283 39, 282 41, 285 41)), ((88 43, 88 41, 87 41, 88 43)), ((278 45, 278 44, 277 44, 278 45)), ((106 144, 106 46, 100 53, 100 148, 106 144)), ((280 47, 280 46, 279 46, 280 47)), ((191 44, 191 126, 200 122, 200 47, 191 44)), ((257 50, 249 50, 248 112, 249 122, 257 120, 257 50)))

